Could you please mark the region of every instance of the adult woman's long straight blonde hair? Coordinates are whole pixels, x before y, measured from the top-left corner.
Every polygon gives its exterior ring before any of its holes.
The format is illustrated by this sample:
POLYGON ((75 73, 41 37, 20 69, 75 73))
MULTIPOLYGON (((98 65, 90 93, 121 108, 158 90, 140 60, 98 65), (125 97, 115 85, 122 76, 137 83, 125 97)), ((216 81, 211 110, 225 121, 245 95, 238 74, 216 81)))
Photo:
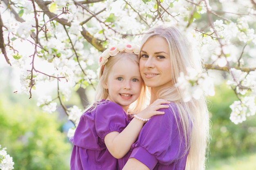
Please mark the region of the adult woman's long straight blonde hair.
POLYGON ((199 55, 193 55, 189 40, 174 26, 161 25, 148 30, 142 38, 141 48, 152 37, 164 38, 168 43, 171 57, 171 77, 174 84, 160 89, 157 98, 167 99, 177 105, 182 121, 182 127, 179 127, 180 135, 184 136, 186 149, 189 150, 186 170, 204 170, 209 143, 209 112, 205 96, 183 102, 182 94, 184 92, 175 86, 180 73, 183 72, 186 75, 186 68, 194 68, 202 73, 204 71, 203 62, 199 55))

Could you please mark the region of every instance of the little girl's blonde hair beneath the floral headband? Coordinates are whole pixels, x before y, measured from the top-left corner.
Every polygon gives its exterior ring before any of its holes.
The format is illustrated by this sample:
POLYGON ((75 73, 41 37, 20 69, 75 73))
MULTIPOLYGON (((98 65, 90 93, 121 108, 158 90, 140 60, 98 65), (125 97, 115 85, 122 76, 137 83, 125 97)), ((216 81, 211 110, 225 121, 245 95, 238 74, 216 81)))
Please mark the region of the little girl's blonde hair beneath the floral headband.
MULTIPOLYGON (((94 102, 88 106, 87 109, 85 109, 85 111, 89 109, 91 111, 94 110, 94 108, 96 108, 95 106, 97 106, 102 99, 107 99, 108 91, 103 87, 103 85, 108 81, 108 75, 111 73, 112 67, 120 60, 130 60, 139 66, 139 57, 135 53, 127 53, 122 51, 117 53, 115 56, 110 56, 108 58, 108 62, 99 68, 99 82, 95 92, 95 99, 94 102)), ((130 105, 128 110, 129 113, 138 113, 146 108, 146 86, 142 79, 141 81, 141 93, 138 99, 130 105)))

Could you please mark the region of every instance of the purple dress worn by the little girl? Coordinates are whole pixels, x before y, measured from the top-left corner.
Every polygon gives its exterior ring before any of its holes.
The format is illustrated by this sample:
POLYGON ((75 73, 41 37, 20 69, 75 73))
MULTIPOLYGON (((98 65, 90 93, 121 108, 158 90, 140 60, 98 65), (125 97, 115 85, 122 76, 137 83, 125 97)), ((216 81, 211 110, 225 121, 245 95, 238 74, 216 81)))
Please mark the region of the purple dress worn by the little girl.
POLYGON ((121 132, 130 122, 121 106, 108 100, 83 113, 70 139, 72 149, 70 170, 117 170, 117 159, 104 143, 113 131, 121 132))

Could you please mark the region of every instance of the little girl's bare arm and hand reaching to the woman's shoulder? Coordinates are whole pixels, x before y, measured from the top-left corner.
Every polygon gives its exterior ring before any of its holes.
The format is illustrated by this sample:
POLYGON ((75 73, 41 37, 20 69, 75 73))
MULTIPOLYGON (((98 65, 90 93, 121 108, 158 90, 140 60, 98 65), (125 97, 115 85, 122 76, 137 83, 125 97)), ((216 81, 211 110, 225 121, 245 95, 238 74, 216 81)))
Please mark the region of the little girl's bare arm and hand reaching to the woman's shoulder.
MULTIPOLYGON (((162 104, 169 103, 170 102, 167 100, 157 99, 137 115, 144 119, 150 118, 153 115, 162 115, 164 112, 157 110, 160 108, 168 108, 168 105, 162 104)), ((131 145, 136 141, 143 125, 144 121, 134 118, 121 133, 117 131, 108 133, 104 138, 104 142, 110 154, 117 159, 124 157, 124 155, 126 155, 126 153, 130 150, 131 145)))

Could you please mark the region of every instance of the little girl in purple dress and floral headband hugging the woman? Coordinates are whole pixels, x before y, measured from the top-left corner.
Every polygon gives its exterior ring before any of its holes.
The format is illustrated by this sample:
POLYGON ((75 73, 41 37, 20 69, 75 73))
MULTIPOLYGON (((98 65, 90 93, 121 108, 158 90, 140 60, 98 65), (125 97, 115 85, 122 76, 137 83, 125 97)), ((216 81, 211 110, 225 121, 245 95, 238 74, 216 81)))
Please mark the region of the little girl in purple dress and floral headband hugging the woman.
POLYGON ((139 48, 113 46, 99 58, 99 84, 95 102, 85 110, 70 140, 74 144, 71 170, 117 170, 144 123, 169 103, 158 99, 146 106, 145 85, 139 73, 139 48), (130 104, 132 107, 130 107, 130 104), (144 109, 144 110, 142 110, 144 109), (130 115, 136 119, 130 121, 130 115))

